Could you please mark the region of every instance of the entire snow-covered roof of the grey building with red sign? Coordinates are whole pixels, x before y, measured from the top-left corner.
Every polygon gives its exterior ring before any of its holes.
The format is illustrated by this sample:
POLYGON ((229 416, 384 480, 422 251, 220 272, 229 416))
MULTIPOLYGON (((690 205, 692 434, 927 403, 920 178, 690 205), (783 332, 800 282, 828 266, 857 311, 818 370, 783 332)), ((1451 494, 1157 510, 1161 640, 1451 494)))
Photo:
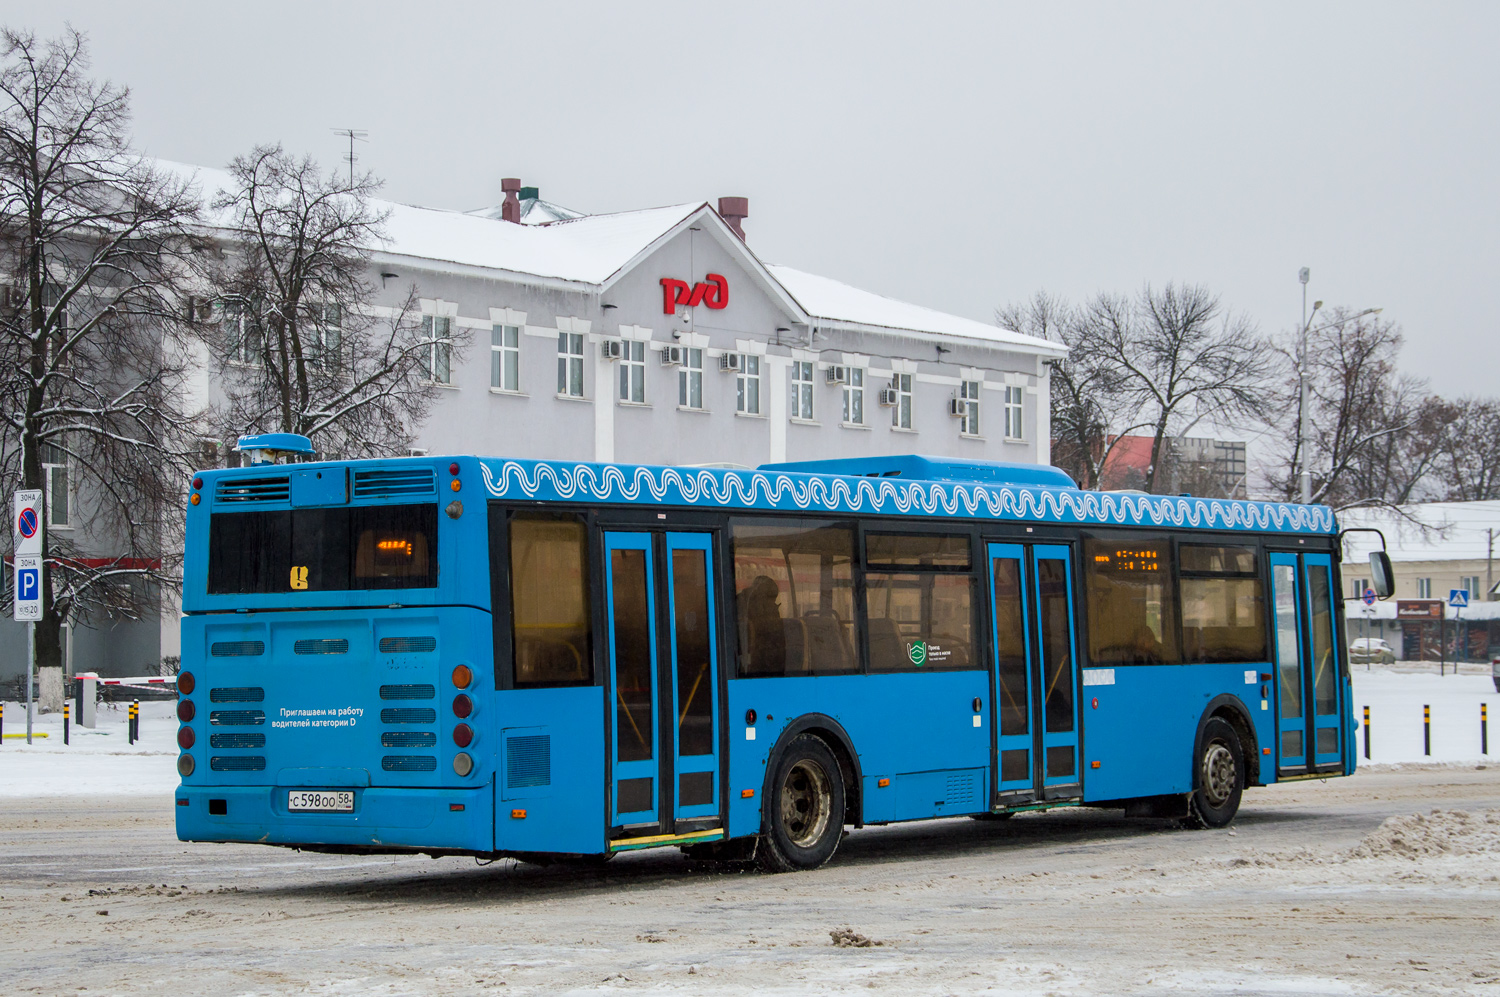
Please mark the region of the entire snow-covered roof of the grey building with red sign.
MULTIPOLYGON (((232 180, 224 169, 168 160, 158 160, 158 165, 196 181, 206 204, 220 190, 232 187, 232 180)), ((414 259, 603 285, 693 214, 699 211, 712 214, 712 208, 704 201, 610 214, 578 214, 540 198, 528 201, 531 204, 524 202, 524 207, 537 211, 538 222, 544 223, 501 222, 498 207, 448 211, 376 201, 378 208, 390 210, 386 222, 387 240, 376 250, 414 259), (548 213, 570 217, 543 217, 548 213)), ((224 226, 228 222, 225 216, 208 217, 208 225, 224 226)), ((1066 352, 1060 343, 988 322, 897 301, 792 267, 760 264, 744 243, 738 240, 734 243, 753 261, 752 268, 764 267, 764 273, 770 277, 765 283, 777 285, 777 292, 794 298, 804 312, 825 325, 958 336, 1042 355, 1060 357, 1066 352)))

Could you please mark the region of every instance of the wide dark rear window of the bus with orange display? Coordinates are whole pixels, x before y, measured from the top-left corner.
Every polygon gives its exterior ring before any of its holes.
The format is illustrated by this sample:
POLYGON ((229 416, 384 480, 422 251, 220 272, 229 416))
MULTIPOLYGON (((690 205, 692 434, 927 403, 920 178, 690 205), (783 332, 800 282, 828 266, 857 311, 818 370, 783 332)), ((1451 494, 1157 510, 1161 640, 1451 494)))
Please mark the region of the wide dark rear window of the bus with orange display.
POLYGON ((436 540, 432 504, 214 513, 208 594, 434 588, 436 540))

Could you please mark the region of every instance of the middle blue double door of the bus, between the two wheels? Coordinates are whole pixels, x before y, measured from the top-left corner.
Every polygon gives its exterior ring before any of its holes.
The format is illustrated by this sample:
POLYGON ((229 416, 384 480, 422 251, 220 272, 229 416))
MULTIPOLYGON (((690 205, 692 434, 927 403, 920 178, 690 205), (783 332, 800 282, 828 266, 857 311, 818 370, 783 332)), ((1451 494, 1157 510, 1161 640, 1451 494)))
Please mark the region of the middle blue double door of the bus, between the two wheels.
POLYGON ((1068 547, 990 544, 996 805, 1082 795, 1068 547))

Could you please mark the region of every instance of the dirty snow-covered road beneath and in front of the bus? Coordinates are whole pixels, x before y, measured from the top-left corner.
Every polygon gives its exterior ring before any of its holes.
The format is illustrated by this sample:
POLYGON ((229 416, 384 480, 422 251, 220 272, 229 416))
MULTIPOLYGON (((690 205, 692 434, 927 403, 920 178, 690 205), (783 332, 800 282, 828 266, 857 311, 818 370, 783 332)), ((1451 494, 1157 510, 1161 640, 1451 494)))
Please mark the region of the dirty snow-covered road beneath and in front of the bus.
POLYGON ((0 799, 0 993, 1500 994, 1500 768, 1254 790, 1220 832, 872 828, 794 876, 184 846, 171 810, 0 799), (1470 816, 1382 831, 1434 807, 1470 816))

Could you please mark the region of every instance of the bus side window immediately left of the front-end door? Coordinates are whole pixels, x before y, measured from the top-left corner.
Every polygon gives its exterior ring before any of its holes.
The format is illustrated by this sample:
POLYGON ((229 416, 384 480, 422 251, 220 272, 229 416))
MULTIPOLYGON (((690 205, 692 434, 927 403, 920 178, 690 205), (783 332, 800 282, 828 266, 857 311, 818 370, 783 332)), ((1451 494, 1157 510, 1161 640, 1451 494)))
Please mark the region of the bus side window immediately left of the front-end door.
POLYGON ((1266 597, 1256 571, 1256 549, 1182 544, 1178 558, 1184 661, 1269 661, 1266 597))

